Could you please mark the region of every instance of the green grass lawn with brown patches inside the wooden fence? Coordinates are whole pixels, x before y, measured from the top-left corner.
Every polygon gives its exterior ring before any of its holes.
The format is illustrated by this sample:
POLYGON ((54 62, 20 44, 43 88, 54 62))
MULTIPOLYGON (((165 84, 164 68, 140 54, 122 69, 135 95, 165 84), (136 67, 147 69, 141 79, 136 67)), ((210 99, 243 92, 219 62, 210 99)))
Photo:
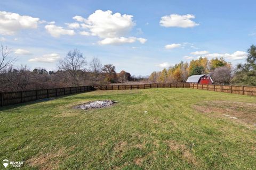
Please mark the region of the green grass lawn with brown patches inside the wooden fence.
POLYGON ((0 157, 25 160, 23 169, 256 169, 255 105, 251 96, 166 88, 6 106, 0 157), (73 108, 99 99, 119 103, 73 108))

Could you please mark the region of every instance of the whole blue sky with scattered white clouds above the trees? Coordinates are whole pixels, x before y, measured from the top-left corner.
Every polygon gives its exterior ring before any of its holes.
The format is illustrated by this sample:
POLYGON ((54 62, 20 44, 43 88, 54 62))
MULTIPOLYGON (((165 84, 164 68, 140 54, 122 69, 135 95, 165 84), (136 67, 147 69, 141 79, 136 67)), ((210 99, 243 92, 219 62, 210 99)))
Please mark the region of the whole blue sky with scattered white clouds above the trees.
POLYGON ((98 57, 117 72, 135 75, 198 56, 222 56, 235 65, 255 44, 255 6, 255 1, 1 1, 0 41, 18 58, 16 66, 30 69, 56 70, 74 48, 88 62, 98 57))

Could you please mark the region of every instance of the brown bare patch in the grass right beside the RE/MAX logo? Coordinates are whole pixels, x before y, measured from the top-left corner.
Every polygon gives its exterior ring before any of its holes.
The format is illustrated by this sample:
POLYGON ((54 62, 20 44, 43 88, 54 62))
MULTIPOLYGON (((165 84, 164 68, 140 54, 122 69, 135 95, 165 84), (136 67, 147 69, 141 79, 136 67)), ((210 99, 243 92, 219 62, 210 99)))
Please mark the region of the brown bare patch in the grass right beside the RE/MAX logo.
POLYGON ((38 157, 28 159, 26 163, 33 167, 39 167, 41 170, 57 169, 59 165, 59 158, 64 154, 64 150, 60 149, 57 152, 41 154, 38 157))

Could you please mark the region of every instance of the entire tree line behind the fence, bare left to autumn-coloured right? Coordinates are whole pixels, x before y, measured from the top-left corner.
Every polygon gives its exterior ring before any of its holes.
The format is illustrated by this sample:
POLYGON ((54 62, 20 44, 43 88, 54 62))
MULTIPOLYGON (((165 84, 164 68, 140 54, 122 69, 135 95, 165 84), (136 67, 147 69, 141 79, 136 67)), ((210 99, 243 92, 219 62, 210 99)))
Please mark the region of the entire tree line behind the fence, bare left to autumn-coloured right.
POLYGON ((223 57, 199 57, 190 63, 180 62, 169 69, 153 72, 149 77, 131 76, 121 71, 116 73, 113 64, 103 65, 94 57, 87 63, 85 56, 78 49, 70 50, 65 58, 58 62, 57 71, 42 68, 30 70, 26 65, 13 67, 17 58, 12 57, 10 49, 0 48, 0 91, 20 91, 34 89, 50 89, 85 85, 103 85, 107 83, 123 83, 127 81, 150 82, 186 82, 190 75, 209 74, 214 83, 256 86, 256 46, 247 50, 245 64, 237 64, 234 68, 223 57))

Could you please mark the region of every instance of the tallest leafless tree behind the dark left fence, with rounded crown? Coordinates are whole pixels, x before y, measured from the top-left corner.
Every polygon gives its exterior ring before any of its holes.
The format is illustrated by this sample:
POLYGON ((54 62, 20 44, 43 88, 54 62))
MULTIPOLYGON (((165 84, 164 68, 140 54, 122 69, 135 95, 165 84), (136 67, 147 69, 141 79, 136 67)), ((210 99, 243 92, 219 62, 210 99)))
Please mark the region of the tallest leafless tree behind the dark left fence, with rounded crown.
POLYGON ((83 53, 78 49, 74 49, 73 51, 69 51, 67 56, 59 62, 58 67, 60 71, 67 72, 72 85, 77 86, 79 82, 79 75, 81 71, 85 69, 86 64, 87 62, 83 53))

